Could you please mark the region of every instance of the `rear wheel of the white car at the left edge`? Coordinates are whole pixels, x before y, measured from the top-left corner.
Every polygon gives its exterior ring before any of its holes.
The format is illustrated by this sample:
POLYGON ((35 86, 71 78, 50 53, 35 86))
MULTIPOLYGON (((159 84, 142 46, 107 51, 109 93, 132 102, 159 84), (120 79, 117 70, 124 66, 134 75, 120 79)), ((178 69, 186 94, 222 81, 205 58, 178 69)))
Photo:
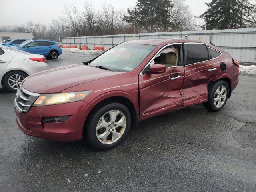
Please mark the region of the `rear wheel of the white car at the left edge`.
POLYGON ((16 92, 18 86, 28 75, 21 71, 12 71, 4 76, 4 88, 10 92, 16 92))

